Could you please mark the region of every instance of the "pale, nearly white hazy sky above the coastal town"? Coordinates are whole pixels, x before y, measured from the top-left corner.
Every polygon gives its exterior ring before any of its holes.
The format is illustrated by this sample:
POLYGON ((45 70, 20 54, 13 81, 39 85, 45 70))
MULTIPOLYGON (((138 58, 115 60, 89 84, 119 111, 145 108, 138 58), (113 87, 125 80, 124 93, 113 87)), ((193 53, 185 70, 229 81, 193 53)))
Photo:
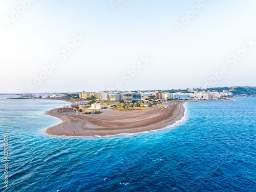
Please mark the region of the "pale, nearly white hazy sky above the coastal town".
POLYGON ((256 86, 255 10, 255 0, 3 0, 0 93, 256 86))

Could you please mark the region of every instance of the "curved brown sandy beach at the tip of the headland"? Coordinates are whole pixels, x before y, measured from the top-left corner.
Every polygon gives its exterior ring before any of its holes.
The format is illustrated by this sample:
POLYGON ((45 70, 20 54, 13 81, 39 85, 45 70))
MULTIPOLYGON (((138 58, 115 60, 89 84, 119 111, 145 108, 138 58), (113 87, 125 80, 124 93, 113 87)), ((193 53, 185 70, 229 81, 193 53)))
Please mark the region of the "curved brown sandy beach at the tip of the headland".
POLYGON ((138 133, 157 130, 174 124, 184 116, 184 103, 179 102, 164 110, 154 109, 120 111, 103 110, 101 114, 62 114, 53 109, 46 115, 62 120, 61 123, 51 126, 47 133, 65 136, 105 136, 121 133, 138 133))

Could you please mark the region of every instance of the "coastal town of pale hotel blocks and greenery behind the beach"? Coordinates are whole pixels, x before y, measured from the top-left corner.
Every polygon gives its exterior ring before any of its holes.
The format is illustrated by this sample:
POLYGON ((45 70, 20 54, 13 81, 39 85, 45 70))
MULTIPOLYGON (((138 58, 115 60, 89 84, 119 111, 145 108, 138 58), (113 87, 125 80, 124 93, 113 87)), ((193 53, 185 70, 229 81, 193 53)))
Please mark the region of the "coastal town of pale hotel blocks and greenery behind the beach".
POLYGON ((38 93, 23 94, 17 98, 33 99, 60 99, 69 102, 67 106, 59 108, 59 113, 78 114, 100 114, 104 109, 111 110, 142 110, 142 109, 161 109, 176 104, 180 101, 199 101, 199 100, 228 100, 233 93, 230 90, 206 91, 198 89, 183 90, 156 90, 156 91, 129 91, 119 92, 85 92, 80 93, 38 93), (153 107, 153 105, 155 105, 153 107))

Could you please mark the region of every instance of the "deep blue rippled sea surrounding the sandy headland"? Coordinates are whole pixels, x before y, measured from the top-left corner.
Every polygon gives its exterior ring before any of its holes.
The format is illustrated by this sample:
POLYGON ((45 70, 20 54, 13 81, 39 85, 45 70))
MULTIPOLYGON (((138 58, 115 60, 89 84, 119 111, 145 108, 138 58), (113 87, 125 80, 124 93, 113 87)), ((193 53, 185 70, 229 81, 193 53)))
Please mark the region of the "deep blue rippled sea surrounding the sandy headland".
POLYGON ((58 137, 44 111, 62 101, 0 95, 0 191, 256 191, 256 97, 186 103, 157 132, 58 137), (4 188, 4 135, 9 188, 4 188))

